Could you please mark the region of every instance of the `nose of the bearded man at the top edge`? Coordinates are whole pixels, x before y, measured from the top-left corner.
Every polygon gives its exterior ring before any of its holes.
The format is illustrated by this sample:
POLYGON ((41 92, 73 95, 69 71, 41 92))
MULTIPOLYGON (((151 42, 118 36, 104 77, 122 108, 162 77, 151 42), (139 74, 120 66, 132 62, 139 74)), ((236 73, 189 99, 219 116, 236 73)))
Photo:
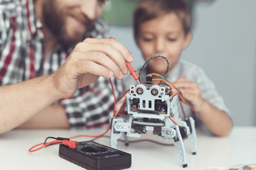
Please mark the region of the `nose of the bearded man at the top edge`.
POLYGON ((81 11, 88 19, 97 19, 99 17, 99 9, 98 0, 81 0, 81 11))

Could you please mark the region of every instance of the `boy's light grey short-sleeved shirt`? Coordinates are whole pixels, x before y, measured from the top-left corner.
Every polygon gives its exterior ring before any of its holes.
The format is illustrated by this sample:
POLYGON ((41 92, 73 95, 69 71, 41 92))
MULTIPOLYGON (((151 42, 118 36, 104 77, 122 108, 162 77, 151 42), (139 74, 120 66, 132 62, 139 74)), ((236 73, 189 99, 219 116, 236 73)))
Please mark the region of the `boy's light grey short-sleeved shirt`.
MULTIPOLYGON (((137 70, 137 73, 139 74, 139 70, 137 70)), ((144 68, 140 73, 140 80, 141 82, 146 82, 146 76, 147 76, 147 68, 144 68)), ((193 63, 189 63, 184 60, 180 60, 179 63, 173 68, 171 72, 169 72, 168 76, 166 77, 168 81, 171 83, 175 82, 178 78, 185 78, 189 81, 193 81, 198 84, 198 87, 200 89, 202 98, 207 100, 209 103, 211 103, 213 106, 217 107, 218 109, 225 111, 230 116, 230 111, 227 109, 225 102, 216 91, 215 85, 213 82, 206 76, 204 71, 199 68, 197 65, 194 65, 193 63)), ((127 76, 124 79, 124 86, 125 89, 129 89, 130 85, 135 85, 137 81, 135 81, 131 76, 127 76)), ((181 102, 182 110, 180 108, 180 111, 184 111, 184 114, 186 117, 192 116, 197 124, 201 124, 200 120, 196 117, 194 112, 191 110, 189 105, 187 105, 184 102, 181 102)), ((183 117, 182 112, 180 112, 180 116, 183 117)))

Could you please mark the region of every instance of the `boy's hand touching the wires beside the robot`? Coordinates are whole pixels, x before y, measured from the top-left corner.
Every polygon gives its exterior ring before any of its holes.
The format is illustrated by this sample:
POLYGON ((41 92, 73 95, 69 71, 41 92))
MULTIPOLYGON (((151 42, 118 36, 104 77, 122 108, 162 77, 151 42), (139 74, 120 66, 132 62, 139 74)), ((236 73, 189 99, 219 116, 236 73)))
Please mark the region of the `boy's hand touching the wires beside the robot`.
POLYGON ((184 78, 178 78, 173 84, 180 89, 182 96, 186 100, 186 103, 191 106, 191 109, 196 112, 200 111, 205 100, 201 96, 197 83, 184 78))

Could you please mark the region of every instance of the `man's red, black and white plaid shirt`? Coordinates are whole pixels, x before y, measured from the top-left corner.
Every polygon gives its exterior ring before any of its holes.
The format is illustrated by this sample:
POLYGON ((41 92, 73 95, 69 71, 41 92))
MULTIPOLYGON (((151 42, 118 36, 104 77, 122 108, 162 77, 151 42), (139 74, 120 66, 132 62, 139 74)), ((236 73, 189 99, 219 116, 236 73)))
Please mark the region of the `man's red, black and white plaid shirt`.
MULTIPOLYGON (((86 37, 110 37, 107 24, 99 19, 86 37)), ((0 85, 26 81, 56 71, 74 46, 56 46, 44 59, 44 34, 36 16, 33 0, 0 1, 0 85)), ((112 78, 116 96, 120 83, 112 78)), ((56 101, 65 107, 71 127, 91 127, 109 122, 114 96, 109 79, 100 77, 95 83, 78 89, 71 98, 56 101)))

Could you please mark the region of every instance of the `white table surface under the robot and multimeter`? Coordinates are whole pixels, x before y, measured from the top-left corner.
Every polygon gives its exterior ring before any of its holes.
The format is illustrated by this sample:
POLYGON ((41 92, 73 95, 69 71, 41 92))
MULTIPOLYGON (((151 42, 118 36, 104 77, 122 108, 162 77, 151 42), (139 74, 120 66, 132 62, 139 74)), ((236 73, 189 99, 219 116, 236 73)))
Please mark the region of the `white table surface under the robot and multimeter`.
MULTIPOLYGON (((16 129, 0 135, 0 170, 83 170, 58 155, 58 144, 47 146, 41 150, 29 153, 29 148, 42 143, 46 137, 73 137, 76 135, 99 135, 107 127, 100 129, 16 129)), ((183 168, 178 149, 171 145, 172 141, 165 142, 157 139, 149 131, 140 138, 130 137, 129 146, 124 142, 117 142, 117 149, 132 155, 130 170, 139 169, 173 169, 173 170, 206 170, 209 167, 234 167, 256 163, 256 126, 234 127, 228 137, 213 137, 197 133, 196 155, 191 154, 189 139, 184 140, 186 161, 188 167, 183 168), (140 141, 150 139, 152 141, 140 141), (169 144, 161 145, 162 144, 169 144)), ((110 132, 99 138, 78 137, 77 142, 90 141, 110 146, 110 132)), ((121 138, 120 138, 121 139, 121 138)), ((51 139, 49 139, 51 141, 51 139)))

